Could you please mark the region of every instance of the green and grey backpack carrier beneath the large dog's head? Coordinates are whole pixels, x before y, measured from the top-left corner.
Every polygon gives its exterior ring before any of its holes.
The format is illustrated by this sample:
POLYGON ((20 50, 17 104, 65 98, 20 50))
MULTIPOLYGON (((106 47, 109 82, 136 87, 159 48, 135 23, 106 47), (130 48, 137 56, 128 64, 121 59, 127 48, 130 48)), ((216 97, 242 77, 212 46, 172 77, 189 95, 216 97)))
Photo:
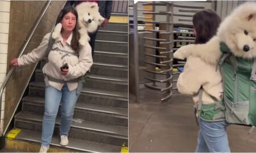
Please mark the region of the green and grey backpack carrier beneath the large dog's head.
POLYGON ((254 128, 256 125, 256 58, 235 57, 224 42, 221 42, 220 50, 223 53, 220 67, 224 83, 226 121, 230 124, 249 125, 254 128))

